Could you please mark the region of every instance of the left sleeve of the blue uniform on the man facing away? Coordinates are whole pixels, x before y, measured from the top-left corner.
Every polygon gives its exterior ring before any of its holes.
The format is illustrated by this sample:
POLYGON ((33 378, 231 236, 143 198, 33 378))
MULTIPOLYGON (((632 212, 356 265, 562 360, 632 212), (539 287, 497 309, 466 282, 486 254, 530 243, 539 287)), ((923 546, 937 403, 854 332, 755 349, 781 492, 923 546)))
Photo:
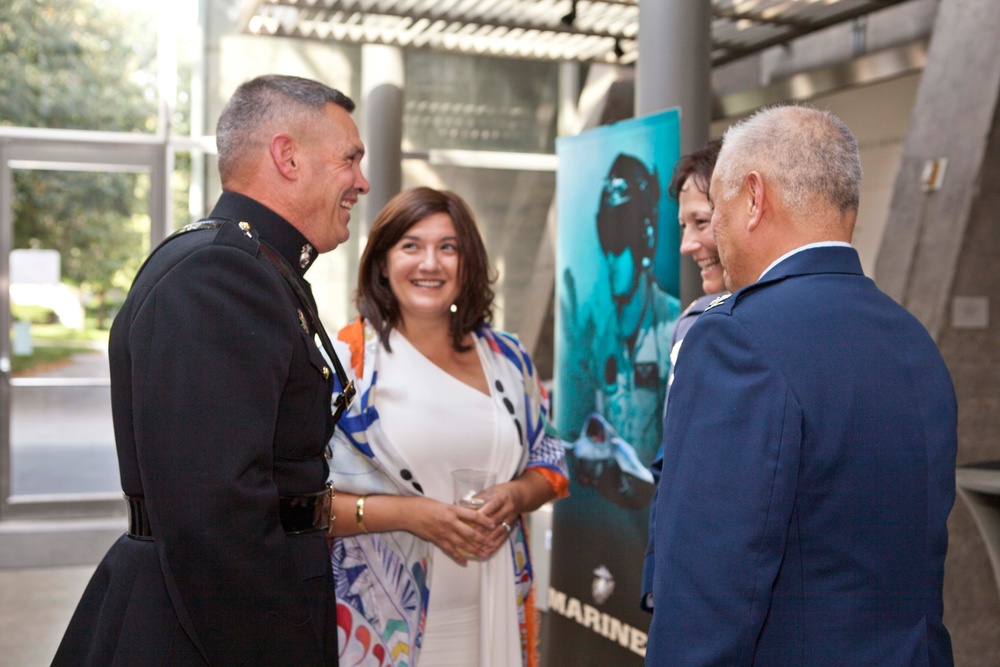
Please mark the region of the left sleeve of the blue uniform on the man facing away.
POLYGON ((750 665, 792 522, 801 410, 728 312, 686 336, 654 531, 649 666, 750 665))

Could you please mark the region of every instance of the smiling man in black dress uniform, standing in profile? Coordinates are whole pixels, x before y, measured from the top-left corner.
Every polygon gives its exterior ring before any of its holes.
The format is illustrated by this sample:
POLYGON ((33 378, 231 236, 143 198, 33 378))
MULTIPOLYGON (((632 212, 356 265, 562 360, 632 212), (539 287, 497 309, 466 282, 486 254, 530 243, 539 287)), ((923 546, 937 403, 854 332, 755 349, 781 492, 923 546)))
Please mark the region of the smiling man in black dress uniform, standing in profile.
POLYGON ((368 182, 340 92, 266 76, 219 119, 211 222, 147 260, 111 330, 128 533, 55 665, 335 665, 324 456, 336 366, 303 274, 368 182))

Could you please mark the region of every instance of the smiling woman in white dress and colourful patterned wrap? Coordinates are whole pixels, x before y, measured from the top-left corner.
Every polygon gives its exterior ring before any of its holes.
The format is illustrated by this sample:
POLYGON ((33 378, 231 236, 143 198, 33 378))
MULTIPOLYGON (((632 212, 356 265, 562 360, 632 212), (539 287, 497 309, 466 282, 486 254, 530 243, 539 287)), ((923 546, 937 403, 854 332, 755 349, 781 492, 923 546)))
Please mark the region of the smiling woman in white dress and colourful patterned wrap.
POLYGON ((357 389, 332 442, 342 664, 535 664, 522 515, 566 494, 548 400, 493 329, 482 237, 457 195, 404 191, 361 258, 361 317, 340 331, 357 389), (478 510, 451 472, 493 472, 478 510))

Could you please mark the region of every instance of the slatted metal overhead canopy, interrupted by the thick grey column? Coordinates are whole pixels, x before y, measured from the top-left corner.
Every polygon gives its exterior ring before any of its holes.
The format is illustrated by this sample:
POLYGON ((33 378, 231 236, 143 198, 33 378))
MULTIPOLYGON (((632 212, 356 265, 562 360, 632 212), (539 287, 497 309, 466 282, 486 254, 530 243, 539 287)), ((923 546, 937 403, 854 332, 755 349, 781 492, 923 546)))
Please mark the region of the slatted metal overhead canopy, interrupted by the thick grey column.
MULTIPOLYGON (((723 65, 906 0, 711 2, 712 65, 723 65)), ((634 64, 639 0, 247 0, 247 33, 468 55, 634 64)))

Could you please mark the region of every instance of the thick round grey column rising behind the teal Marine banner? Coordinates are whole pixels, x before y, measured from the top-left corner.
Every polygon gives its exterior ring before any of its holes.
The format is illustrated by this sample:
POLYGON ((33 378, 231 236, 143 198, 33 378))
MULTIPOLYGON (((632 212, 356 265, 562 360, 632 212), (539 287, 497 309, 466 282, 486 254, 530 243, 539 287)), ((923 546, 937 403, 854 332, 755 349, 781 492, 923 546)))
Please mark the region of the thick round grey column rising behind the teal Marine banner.
MULTIPOLYGON (((712 115, 711 5, 691 0, 639 4, 635 114, 681 108, 681 153, 708 141, 712 115)), ((701 296, 698 266, 681 262, 681 303, 701 296)))

